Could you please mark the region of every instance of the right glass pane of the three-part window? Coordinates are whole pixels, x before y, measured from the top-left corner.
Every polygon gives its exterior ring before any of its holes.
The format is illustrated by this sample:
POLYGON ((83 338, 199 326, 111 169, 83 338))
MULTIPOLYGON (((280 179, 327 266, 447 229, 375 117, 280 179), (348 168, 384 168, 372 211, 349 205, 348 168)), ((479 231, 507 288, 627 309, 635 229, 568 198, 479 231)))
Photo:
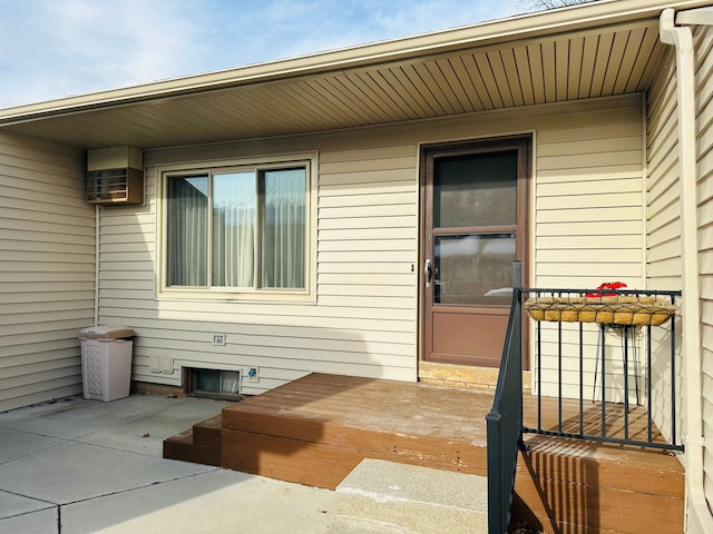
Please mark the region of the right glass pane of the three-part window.
POLYGON ((306 169, 261 172, 261 287, 304 288, 306 169))

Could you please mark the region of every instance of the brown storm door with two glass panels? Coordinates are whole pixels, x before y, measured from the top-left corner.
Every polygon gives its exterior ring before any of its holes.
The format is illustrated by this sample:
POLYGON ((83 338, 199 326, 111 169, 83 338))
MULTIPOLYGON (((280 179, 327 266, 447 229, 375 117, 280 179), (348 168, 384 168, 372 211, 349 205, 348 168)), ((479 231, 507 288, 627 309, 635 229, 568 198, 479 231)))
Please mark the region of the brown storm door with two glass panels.
POLYGON ((497 367, 512 260, 528 270, 529 138, 424 149, 421 168, 422 358, 497 367))

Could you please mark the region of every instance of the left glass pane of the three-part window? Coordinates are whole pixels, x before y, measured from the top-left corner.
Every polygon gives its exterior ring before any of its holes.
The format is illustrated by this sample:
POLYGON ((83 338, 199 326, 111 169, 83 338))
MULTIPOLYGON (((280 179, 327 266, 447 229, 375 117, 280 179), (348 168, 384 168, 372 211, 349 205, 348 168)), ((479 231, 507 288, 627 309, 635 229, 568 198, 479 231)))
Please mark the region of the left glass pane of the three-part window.
POLYGON ((208 285, 208 177, 168 178, 168 286, 208 285))

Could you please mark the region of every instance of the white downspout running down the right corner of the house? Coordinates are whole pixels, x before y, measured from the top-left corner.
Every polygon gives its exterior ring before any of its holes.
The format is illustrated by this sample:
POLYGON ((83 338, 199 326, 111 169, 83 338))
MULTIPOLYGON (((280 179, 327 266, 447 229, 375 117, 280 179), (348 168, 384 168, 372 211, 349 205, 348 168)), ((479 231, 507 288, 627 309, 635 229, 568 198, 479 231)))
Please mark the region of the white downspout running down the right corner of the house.
POLYGON ((703 487, 703 388, 701 310, 699 303, 697 201, 695 146, 694 51, 691 28, 674 26, 675 11, 661 13, 662 42, 676 52, 678 97, 678 166, 681 169, 681 241, 683 269, 683 385, 685 433, 685 528, 695 521, 699 532, 713 532, 713 516, 703 487))

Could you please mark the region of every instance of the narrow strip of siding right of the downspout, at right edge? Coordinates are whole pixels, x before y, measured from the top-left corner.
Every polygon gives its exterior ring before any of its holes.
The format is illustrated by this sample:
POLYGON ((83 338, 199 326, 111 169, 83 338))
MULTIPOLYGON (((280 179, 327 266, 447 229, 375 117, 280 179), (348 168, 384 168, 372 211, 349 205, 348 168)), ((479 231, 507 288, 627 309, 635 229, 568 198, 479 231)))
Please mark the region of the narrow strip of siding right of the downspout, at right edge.
POLYGON ((703 350, 704 487, 713 504, 713 30, 699 28, 697 151, 701 260, 701 345, 703 350))

